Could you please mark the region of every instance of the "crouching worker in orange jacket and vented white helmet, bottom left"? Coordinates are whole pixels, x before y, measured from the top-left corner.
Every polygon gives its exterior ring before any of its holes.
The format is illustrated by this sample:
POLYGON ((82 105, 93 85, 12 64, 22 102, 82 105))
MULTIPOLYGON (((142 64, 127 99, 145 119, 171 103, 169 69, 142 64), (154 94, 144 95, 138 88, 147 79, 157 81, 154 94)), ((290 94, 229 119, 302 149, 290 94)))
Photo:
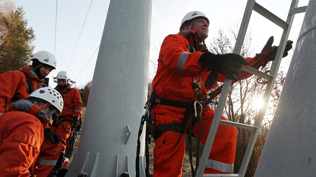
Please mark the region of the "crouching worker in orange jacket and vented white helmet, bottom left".
MULTIPOLYGON (((0 116, 0 174, 30 176, 44 141, 44 127, 63 110, 63 98, 43 87, 15 101, 0 116)), ((57 133, 51 136, 58 137, 57 133)))

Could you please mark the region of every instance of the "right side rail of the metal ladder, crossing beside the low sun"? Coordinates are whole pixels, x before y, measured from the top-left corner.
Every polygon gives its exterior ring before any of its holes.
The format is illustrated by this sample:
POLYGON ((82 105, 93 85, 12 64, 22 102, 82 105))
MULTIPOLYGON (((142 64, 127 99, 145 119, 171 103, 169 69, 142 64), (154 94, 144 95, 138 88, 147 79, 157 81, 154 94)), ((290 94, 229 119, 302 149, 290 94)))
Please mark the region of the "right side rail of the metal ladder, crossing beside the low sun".
MULTIPOLYGON (((297 4, 298 4, 298 0, 292 0, 290 9, 296 8, 297 4)), ((286 22, 289 25, 287 28, 285 28, 283 30, 283 33, 282 33, 282 36, 280 39, 280 45, 279 45, 278 50, 276 52, 275 60, 273 61, 273 64, 271 66, 271 75, 273 75, 273 78, 271 80, 269 80, 267 83, 267 87, 266 87, 266 90, 265 90, 265 93, 263 96, 263 103, 262 103, 264 106, 259 109, 259 113, 258 113, 256 121, 255 121, 255 125, 258 126, 258 128, 256 129, 256 131, 252 131, 252 133, 251 133, 251 136, 250 136, 250 139, 248 142, 248 146, 246 149, 246 153, 244 155, 243 161, 242 161, 241 166, 240 166, 240 170, 238 172, 239 174, 242 174, 242 176, 244 176, 246 173, 246 169, 247 169, 248 163, 250 161, 251 153, 252 153, 252 150, 254 148, 254 144, 255 144, 256 138, 258 136, 258 133, 260 131, 261 123, 262 123, 262 120, 263 120, 263 117, 265 114, 265 110, 266 110, 266 107, 267 107, 267 104, 268 104, 268 101, 269 101, 269 98, 270 98, 270 95, 272 92, 273 84, 274 84, 275 79, 276 79, 277 71, 278 71, 278 68, 280 66, 281 58, 282 58, 282 55, 283 55, 283 52, 285 49, 285 44, 286 44, 286 41, 287 41, 287 38, 289 35, 290 28, 291 28, 292 23, 293 23, 293 19, 294 19, 294 14, 289 13, 287 16, 287 19, 286 19, 286 22)))

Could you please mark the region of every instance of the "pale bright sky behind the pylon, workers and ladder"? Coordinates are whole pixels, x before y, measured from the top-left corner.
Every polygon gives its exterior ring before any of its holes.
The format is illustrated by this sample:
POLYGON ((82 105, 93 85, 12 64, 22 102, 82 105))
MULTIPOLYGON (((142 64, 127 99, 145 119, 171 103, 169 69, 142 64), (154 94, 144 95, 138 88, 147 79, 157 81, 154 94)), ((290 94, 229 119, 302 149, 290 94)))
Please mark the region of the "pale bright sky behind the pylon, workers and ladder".
MULTIPOLYGON (((57 59, 57 68, 48 77, 49 86, 56 86, 53 76, 67 71, 77 87, 92 80, 110 0, 12 0, 16 7, 23 6, 28 26, 34 29, 34 52, 48 50, 57 59)), ((199 10, 210 19, 209 37, 229 24, 240 24, 247 0, 152 0, 151 37, 149 59, 156 62, 164 38, 178 33, 182 18, 199 10)), ((261 6, 286 20, 291 0, 256 0, 261 6)), ((300 0, 305 6, 308 0, 300 0)), ((289 39, 294 43, 304 17, 295 14, 289 39)), ((253 11, 248 31, 251 30, 255 48, 259 53, 267 39, 273 35, 273 45, 278 45, 282 29, 253 11)), ((293 47, 294 48, 294 47, 293 47)), ((283 62, 283 61, 282 61, 283 62)), ((151 62, 149 62, 151 63, 151 62)), ((149 71, 150 72, 150 71, 149 71)))

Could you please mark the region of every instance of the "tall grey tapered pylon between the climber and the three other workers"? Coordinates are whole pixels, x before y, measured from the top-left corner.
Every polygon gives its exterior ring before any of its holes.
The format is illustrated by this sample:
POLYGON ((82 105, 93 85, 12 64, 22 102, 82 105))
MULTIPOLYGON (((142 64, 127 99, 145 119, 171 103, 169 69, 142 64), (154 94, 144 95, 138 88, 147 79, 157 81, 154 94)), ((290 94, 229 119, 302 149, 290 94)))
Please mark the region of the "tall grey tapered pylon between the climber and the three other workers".
POLYGON ((110 1, 79 151, 66 176, 125 171, 135 176, 137 133, 147 99, 151 8, 152 0, 110 1))

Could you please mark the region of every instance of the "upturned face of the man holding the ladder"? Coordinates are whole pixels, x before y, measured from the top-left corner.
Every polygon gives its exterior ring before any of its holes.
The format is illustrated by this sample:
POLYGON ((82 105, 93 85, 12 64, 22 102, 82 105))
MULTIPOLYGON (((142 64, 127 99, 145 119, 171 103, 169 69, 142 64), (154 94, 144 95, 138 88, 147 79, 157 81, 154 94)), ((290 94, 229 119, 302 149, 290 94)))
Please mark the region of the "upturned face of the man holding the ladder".
MULTIPOLYGON (((185 26, 186 29, 191 29, 191 25, 185 26)), ((198 37, 200 41, 205 40, 209 36, 209 24, 204 18, 197 18, 194 22, 193 30, 198 33, 198 37)))

